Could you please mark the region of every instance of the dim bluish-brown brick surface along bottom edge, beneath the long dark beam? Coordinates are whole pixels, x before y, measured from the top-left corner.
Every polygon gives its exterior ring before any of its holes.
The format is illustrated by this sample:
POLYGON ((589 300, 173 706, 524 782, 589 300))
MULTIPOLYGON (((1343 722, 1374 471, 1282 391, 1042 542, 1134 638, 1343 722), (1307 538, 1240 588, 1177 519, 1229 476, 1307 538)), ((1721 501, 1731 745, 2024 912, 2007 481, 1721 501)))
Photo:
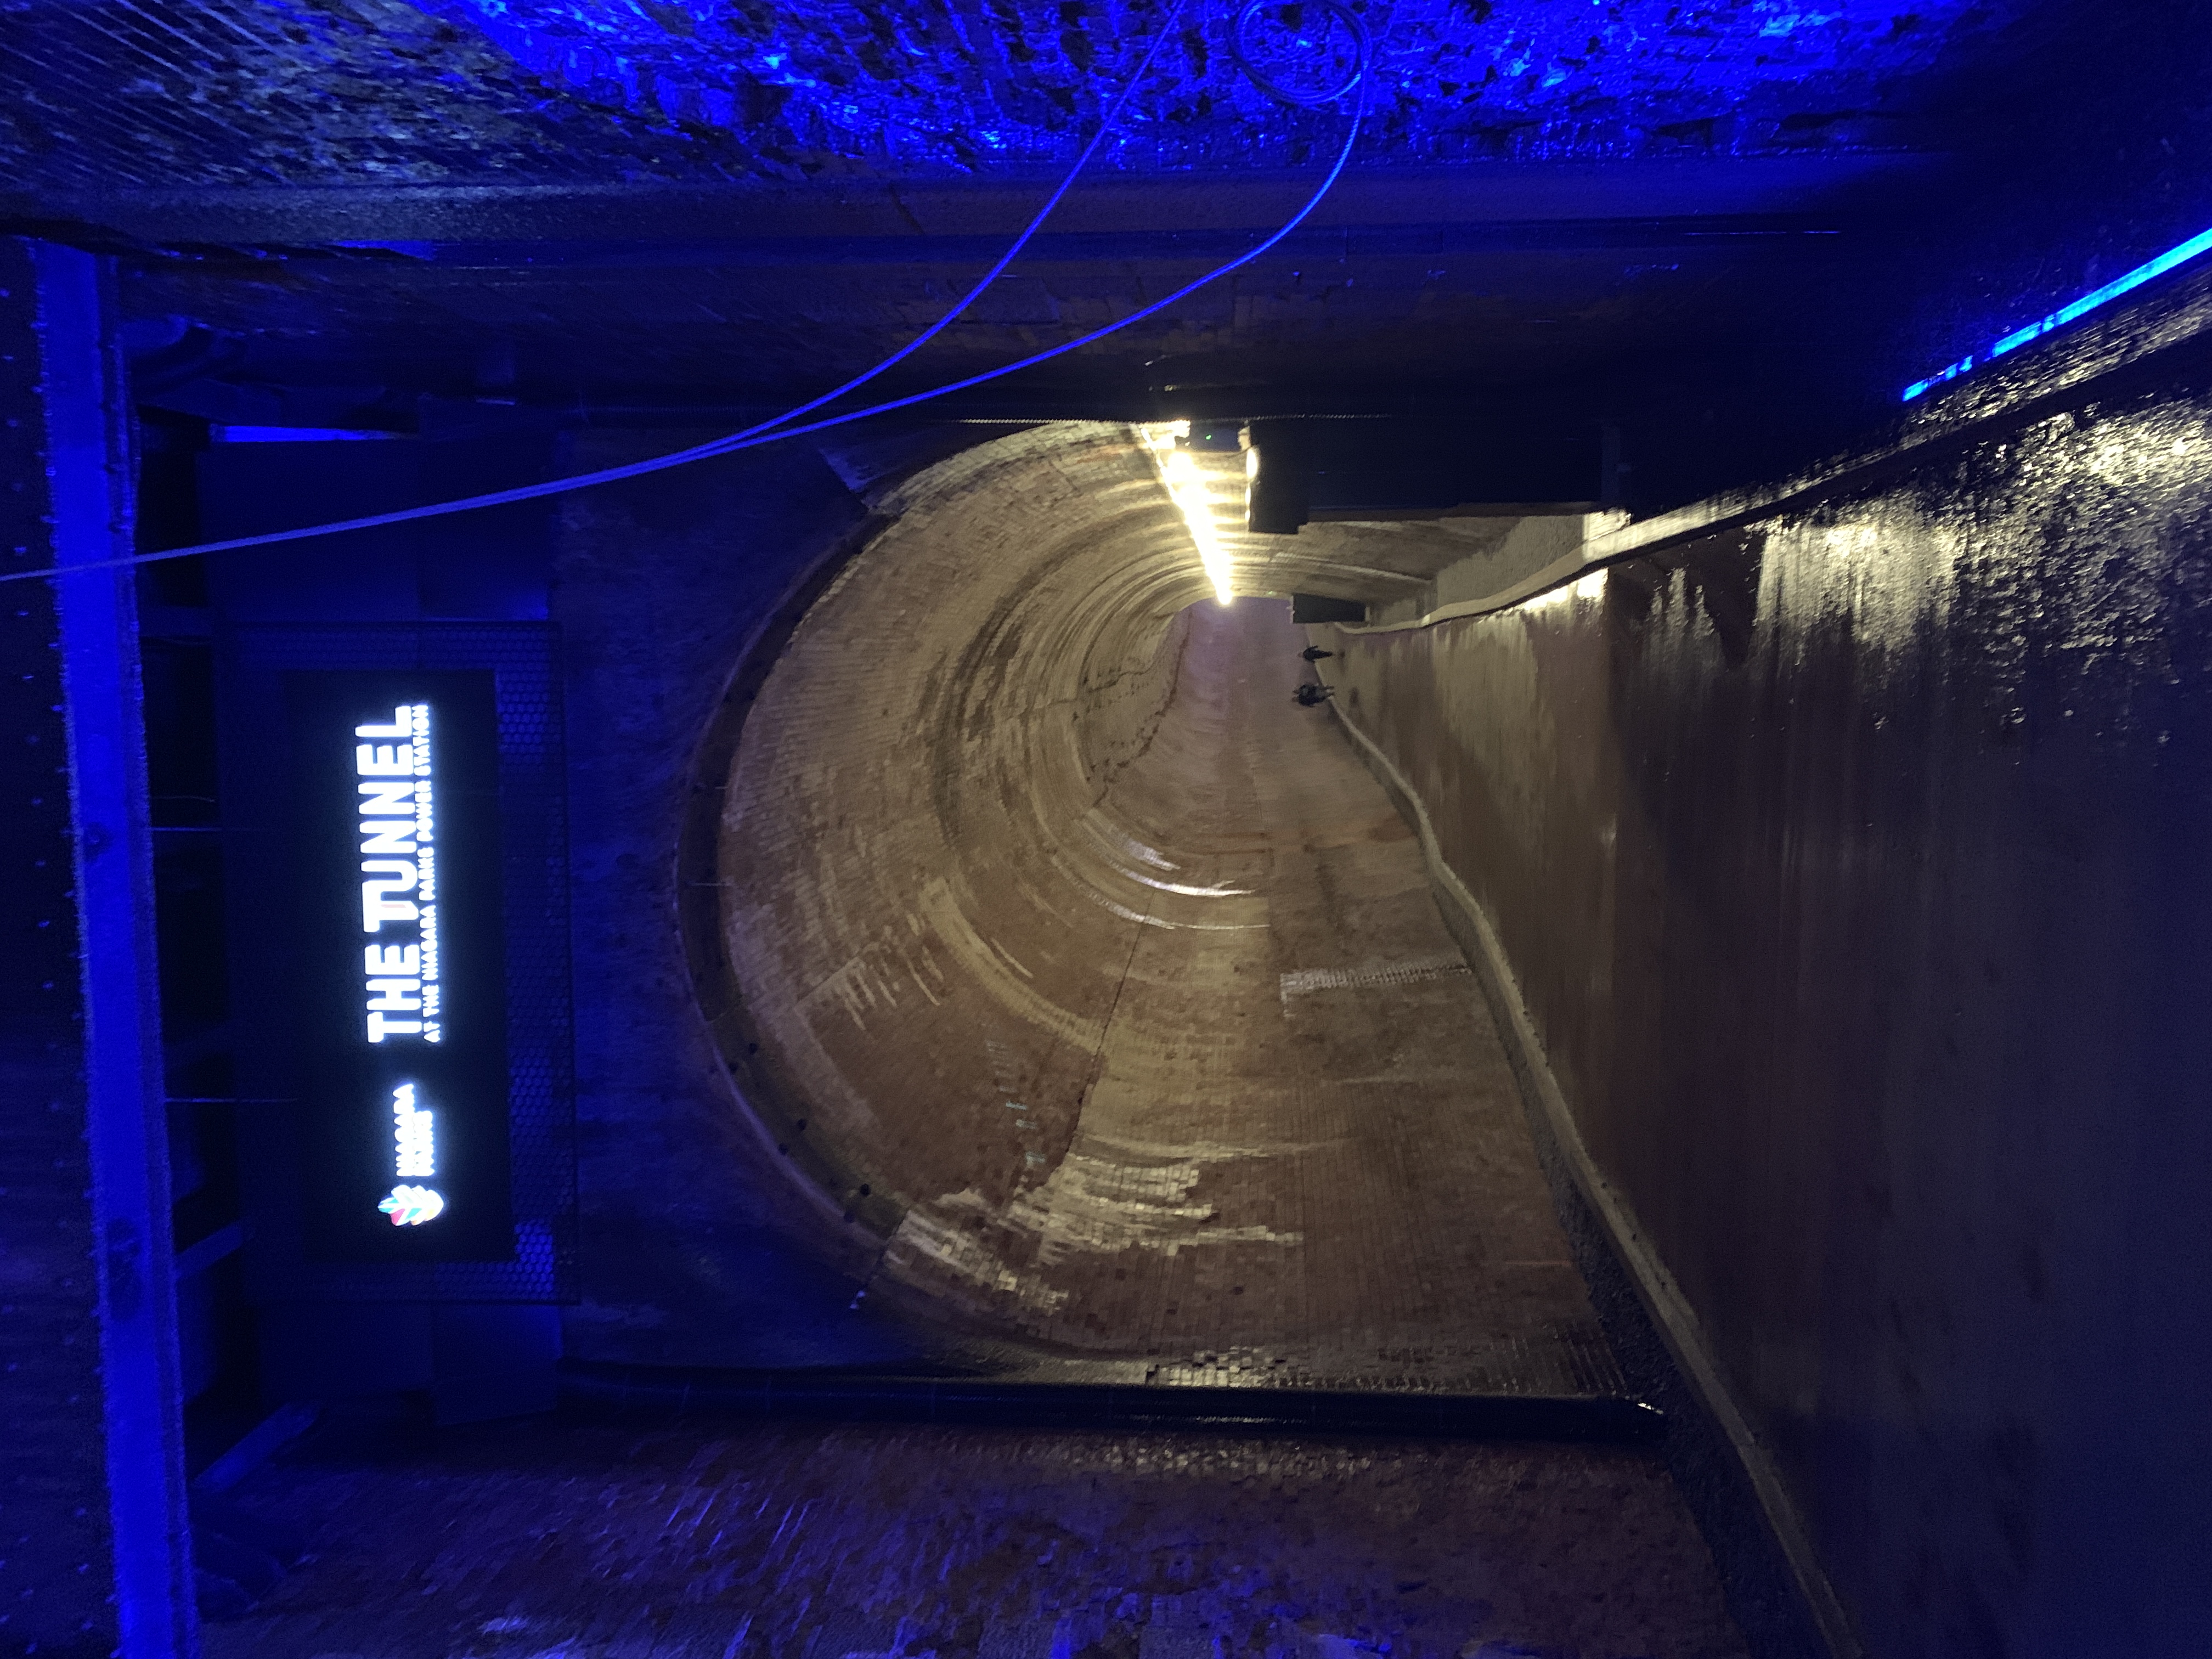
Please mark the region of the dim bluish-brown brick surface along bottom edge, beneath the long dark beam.
POLYGON ((208 1659, 1736 1659, 1613 1447, 524 1420, 323 1429, 208 1659))

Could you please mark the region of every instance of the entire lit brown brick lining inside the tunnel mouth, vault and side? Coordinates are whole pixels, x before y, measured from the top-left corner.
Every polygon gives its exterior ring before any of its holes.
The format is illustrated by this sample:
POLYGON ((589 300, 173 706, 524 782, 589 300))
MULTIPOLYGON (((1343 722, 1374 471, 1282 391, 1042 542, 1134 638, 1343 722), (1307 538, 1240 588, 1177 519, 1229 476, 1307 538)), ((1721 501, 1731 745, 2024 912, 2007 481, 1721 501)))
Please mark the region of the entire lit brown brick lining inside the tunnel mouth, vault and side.
MULTIPOLYGON (((723 790, 743 1075, 872 1294, 1148 1376, 1608 1391, 1420 847, 1128 427, 927 469, 723 790)), ((1323 664, 1325 666, 1325 664, 1323 664)))

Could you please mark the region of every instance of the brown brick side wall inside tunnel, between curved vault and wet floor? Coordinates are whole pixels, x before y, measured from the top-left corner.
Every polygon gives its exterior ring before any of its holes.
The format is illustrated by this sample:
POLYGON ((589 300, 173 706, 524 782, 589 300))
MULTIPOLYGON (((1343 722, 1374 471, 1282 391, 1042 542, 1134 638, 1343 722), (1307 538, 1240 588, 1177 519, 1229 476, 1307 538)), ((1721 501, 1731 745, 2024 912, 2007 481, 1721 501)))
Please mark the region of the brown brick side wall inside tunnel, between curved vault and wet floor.
MULTIPOLYGON (((1166 920, 1121 929, 1073 1141, 993 1270, 1031 1336, 1144 1380, 1615 1394, 1489 1006, 1411 830, 1292 699, 1303 646, 1285 602, 1190 613, 1104 803, 1166 920)), ((894 1272, 962 1290, 956 1223, 909 1219, 894 1272)))

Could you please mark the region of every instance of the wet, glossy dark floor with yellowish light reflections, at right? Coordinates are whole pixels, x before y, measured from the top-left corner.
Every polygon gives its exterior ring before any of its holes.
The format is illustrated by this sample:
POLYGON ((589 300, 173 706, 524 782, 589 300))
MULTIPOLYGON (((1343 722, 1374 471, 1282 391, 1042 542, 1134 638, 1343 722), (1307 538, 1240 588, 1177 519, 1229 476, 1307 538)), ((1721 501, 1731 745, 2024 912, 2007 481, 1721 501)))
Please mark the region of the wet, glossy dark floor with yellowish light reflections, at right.
POLYGON ((2212 1639, 2208 358, 1314 630, 1882 1659, 2212 1639))

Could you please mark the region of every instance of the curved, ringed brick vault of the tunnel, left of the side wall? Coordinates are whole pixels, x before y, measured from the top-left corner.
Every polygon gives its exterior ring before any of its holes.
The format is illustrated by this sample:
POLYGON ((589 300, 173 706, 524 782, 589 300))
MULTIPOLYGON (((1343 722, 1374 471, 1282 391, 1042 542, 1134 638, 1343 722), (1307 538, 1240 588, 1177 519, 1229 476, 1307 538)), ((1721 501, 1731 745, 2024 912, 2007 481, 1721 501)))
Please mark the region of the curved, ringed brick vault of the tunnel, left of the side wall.
POLYGON ((723 947, 754 1099, 803 1102, 812 1188, 889 1239, 894 1281, 989 1316, 1004 1272, 969 1212, 1075 1133, 1164 898, 1110 785, 1208 584, 1126 427, 982 445, 878 511, 745 717, 723 947))

